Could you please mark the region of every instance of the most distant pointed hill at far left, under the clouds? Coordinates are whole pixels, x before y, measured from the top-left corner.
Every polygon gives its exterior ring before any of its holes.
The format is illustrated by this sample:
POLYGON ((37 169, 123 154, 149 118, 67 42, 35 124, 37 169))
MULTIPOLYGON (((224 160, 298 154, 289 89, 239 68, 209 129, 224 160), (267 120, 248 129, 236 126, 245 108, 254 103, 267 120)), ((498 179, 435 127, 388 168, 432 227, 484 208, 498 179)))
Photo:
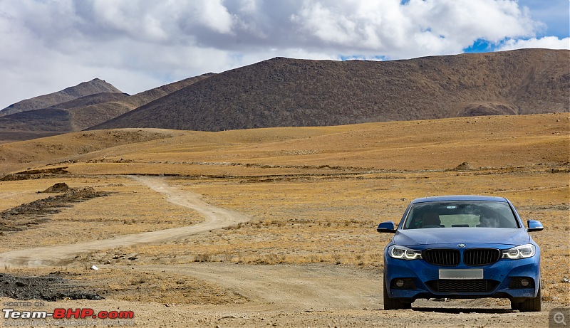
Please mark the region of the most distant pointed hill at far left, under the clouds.
POLYGON ((113 87, 113 85, 106 83, 104 80, 95 78, 89 82, 79 83, 74 87, 65 88, 58 92, 53 92, 48 95, 40 95, 38 97, 16 102, 15 104, 4 108, 4 110, 0 110, 0 116, 11 115, 17 112, 26 112, 28 110, 39 110, 42 108, 61 104, 62 102, 68 102, 70 100, 76 100, 81 97, 95 95, 102 92, 113 92, 120 94, 123 93, 122 91, 113 87))

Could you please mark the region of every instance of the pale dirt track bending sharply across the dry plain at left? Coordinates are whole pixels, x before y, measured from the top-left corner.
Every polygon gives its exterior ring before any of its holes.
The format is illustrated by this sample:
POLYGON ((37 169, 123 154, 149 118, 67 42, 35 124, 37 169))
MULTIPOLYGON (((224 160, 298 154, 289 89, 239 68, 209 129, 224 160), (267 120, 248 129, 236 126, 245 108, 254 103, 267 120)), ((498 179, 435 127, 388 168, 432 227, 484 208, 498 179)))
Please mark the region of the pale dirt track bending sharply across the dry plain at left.
POLYGON ((182 228, 172 228, 162 231, 152 231, 133 235, 118 236, 105 240, 93 240, 86 243, 71 245, 58 245, 51 247, 30 248, 0 253, 0 266, 43 266, 65 265, 73 261, 77 255, 110 248, 136 245, 141 243, 160 243, 166 240, 175 240, 204 231, 215 230, 227 226, 237 225, 248 221, 249 218, 242 213, 229 211, 209 205, 202 201, 199 195, 190 191, 181 191, 166 183, 160 177, 134 176, 133 179, 149 186, 152 190, 165 194, 167 201, 180 206, 192 208, 204 216, 204 222, 182 228))

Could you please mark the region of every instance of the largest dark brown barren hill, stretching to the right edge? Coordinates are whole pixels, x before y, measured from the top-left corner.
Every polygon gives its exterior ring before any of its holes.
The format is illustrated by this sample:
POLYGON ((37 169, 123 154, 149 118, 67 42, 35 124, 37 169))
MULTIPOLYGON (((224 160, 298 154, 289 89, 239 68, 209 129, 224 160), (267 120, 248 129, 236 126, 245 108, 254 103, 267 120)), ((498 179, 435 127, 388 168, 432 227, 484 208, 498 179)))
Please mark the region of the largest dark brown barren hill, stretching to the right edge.
POLYGON ((229 70, 92 129, 219 131, 568 112, 570 51, 413 60, 274 58, 229 70))

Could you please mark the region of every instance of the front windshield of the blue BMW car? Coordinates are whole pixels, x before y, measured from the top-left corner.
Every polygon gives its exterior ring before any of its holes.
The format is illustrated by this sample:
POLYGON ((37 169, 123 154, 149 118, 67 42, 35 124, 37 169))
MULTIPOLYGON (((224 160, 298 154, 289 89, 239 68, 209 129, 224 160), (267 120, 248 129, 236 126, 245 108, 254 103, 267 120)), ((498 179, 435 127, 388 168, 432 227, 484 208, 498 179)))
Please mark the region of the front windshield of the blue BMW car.
POLYGON ((432 201, 415 203, 404 229, 519 228, 508 203, 499 201, 432 201))

